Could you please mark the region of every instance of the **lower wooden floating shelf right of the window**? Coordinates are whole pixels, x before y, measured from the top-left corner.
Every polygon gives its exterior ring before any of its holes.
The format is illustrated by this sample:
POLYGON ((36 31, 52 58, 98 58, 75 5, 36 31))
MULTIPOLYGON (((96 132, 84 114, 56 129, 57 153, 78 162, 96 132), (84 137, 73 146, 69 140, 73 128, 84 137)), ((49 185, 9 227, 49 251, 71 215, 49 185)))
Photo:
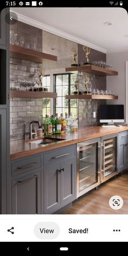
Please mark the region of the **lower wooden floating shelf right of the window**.
POLYGON ((66 99, 95 99, 95 100, 117 100, 118 96, 117 95, 87 95, 87 94, 82 94, 82 95, 66 95, 66 99))

